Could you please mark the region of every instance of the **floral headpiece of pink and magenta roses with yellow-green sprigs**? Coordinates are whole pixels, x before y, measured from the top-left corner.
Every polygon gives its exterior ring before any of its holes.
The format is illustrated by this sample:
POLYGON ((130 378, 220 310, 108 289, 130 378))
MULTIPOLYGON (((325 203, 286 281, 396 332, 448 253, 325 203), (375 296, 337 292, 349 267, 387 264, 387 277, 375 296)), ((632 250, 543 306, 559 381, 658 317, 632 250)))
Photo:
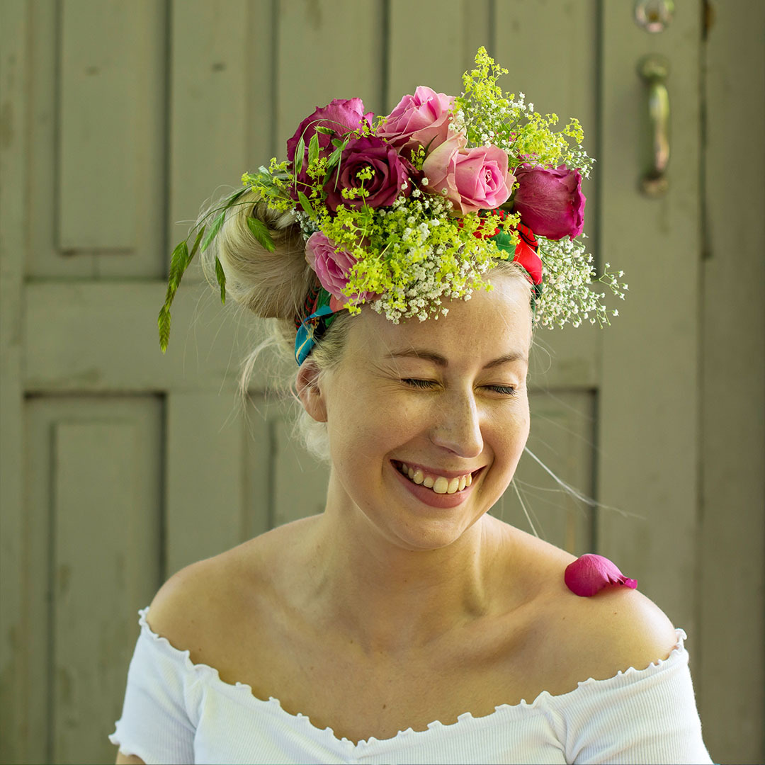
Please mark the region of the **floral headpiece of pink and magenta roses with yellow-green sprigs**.
MULTIPOLYGON (((191 251, 188 239, 174 250, 158 319, 162 350, 184 270, 247 189, 273 210, 294 213, 317 276, 295 317, 298 363, 340 311, 358 313, 366 303, 395 323, 438 317, 448 311, 444 299, 490 289, 483 275, 496 259, 526 270, 536 323, 610 324, 617 311, 589 287, 596 274, 581 241, 581 179, 594 160, 581 147, 579 122, 556 132, 555 114, 535 112, 523 93, 503 93, 496 80, 507 70, 485 48, 475 63, 461 96, 419 86, 387 116, 375 119, 353 98, 306 117, 287 142, 286 160, 245 173, 245 189, 211 213, 218 213, 211 223, 200 223, 191 251)), ((273 252, 265 224, 247 223, 273 252)), ((623 298, 622 275, 604 272, 596 281, 623 298)), ((216 276, 225 301, 217 258, 216 276)))

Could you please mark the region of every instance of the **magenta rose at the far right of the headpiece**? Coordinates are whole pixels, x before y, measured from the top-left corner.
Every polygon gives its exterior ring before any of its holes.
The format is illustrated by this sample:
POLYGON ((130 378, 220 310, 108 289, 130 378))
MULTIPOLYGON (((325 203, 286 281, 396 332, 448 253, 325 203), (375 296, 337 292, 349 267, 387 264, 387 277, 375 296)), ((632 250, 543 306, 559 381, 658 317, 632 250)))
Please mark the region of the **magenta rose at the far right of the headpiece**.
POLYGON ((521 220, 539 236, 547 239, 573 239, 584 228, 584 203, 581 174, 559 168, 533 168, 522 164, 515 171, 518 188, 513 209, 521 220))

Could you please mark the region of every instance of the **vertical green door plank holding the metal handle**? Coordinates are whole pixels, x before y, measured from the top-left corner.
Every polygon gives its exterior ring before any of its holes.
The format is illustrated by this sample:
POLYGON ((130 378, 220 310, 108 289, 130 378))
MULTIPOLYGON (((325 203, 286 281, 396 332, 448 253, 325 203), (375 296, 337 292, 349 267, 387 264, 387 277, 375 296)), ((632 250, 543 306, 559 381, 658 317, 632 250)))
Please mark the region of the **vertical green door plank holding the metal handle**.
MULTIPOLYGON (((693 7, 693 6, 690 6, 693 7)), ((699 44, 698 12, 648 35, 630 8, 604 2, 601 73, 601 251, 627 272, 627 301, 603 333, 599 499, 643 516, 601 513, 601 552, 698 640, 699 44), (641 194, 649 145, 649 50, 669 58, 669 190, 641 194)))

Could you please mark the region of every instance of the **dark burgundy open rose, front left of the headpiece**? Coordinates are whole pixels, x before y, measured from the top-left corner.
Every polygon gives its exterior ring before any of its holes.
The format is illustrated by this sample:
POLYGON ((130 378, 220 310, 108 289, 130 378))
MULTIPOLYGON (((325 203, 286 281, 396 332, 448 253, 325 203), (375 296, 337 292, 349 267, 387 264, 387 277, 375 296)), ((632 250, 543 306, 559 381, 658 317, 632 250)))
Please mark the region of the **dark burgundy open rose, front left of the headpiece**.
POLYGON ((347 207, 362 207, 366 201, 369 207, 387 207, 399 194, 409 194, 412 184, 409 176, 414 168, 390 144, 369 136, 351 138, 340 158, 338 174, 332 174, 324 189, 327 191, 327 207, 333 212, 341 204, 347 207), (372 177, 362 180, 360 171, 371 171, 372 177), (366 199, 346 199, 341 193, 344 188, 363 187, 369 192, 366 199))

